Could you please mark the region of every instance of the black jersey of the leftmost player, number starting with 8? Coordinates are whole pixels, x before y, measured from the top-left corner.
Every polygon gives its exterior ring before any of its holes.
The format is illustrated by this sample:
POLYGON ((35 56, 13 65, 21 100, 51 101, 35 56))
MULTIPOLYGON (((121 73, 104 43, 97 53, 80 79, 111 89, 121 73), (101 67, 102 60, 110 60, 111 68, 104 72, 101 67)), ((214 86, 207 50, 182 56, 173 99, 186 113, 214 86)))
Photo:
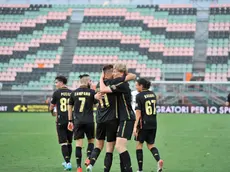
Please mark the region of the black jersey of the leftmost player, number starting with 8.
POLYGON ((57 107, 57 124, 68 123, 68 102, 71 90, 67 87, 60 88, 53 93, 51 103, 57 107))

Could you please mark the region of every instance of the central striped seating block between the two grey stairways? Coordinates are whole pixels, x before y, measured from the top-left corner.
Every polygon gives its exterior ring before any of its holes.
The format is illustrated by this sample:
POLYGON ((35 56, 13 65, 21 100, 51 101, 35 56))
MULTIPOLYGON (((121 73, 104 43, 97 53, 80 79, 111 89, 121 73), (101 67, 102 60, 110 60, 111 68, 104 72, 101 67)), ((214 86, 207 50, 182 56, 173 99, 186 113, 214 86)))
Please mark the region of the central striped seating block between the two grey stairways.
POLYGON ((86 8, 73 63, 91 69, 126 63, 138 76, 159 81, 168 73, 192 72, 195 31, 190 5, 86 8))

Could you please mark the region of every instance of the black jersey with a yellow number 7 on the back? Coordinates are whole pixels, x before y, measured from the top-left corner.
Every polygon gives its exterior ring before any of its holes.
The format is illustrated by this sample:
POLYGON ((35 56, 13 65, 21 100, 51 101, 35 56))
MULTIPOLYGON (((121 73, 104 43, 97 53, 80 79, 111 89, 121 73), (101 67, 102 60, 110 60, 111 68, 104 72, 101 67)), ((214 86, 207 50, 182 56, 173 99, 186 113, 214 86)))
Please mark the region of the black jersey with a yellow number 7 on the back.
POLYGON ((88 124, 94 122, 94 95, 95 91, 87 87, 80 87, 71 93, 69 105, 74 106, 74 124, 88 124))

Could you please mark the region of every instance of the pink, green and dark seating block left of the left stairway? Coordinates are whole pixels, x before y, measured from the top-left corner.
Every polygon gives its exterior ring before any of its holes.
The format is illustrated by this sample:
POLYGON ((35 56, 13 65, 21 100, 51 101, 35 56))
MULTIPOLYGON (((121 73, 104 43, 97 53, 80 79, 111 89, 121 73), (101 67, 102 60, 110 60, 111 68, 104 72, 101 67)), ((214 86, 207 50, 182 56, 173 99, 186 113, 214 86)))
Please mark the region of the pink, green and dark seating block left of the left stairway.
POLYGON ((48 89, 67 37, 72 10, 56 5, 1 5, 0 81, 3 89, 48 89), (6 84, 5 84, 6 83, 6 84), (18 85, 17 85, 18 84, 18 85))

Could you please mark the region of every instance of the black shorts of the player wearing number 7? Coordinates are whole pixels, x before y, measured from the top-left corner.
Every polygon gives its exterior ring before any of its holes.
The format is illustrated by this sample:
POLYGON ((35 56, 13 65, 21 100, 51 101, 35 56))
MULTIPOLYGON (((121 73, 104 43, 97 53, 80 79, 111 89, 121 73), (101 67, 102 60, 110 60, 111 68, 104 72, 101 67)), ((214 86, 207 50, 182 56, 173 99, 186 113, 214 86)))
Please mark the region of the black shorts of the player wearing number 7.
POLYGON ((76 124, 74 126, 74 140, 84 139, 85 135, 87 139, 94 139, 95 137, 95 125, 89 124, 76 124))

